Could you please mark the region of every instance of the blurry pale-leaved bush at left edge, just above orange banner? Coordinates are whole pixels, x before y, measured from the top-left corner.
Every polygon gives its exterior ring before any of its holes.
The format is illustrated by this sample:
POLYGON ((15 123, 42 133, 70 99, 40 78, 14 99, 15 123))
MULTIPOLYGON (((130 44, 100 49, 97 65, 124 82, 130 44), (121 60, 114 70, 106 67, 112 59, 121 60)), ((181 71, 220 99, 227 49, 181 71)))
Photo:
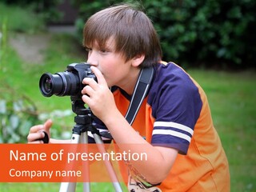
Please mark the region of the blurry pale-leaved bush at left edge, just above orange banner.
POLYGON ((0 91, 4 93, 0 97, 0 143, 26 142, 30 127, 39 122, 34 103, 9 86, 1 86, 0 91))

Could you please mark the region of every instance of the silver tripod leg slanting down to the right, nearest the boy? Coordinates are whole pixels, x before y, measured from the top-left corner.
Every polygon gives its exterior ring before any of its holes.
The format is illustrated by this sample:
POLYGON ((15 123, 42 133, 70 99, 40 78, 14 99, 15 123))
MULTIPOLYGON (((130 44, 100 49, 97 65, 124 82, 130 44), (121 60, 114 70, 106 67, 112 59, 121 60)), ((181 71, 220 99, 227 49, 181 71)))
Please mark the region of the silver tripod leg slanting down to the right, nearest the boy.
MULTIPOLYGON (((98 150, 100 153, 104 154, 106 153, 106 149, 105 147, 102 145, 102 138, 98 135, 98 134, 93 134, 94 135, 94 140, 96 142, 96 144, 98 145, 98 150)), ((112 181, 112 184, 114 186, 114 190, 116 192, 122 192, 122 187, 120 186, 120 183, 118 182, 118 177, 114 171, 114 168, 111 164, 110 161, 108 161, 107 159, 104 160, 105 166, 106 166, 106 170, 108 171, 108 174, 110 175, 110 179, 112 181)))

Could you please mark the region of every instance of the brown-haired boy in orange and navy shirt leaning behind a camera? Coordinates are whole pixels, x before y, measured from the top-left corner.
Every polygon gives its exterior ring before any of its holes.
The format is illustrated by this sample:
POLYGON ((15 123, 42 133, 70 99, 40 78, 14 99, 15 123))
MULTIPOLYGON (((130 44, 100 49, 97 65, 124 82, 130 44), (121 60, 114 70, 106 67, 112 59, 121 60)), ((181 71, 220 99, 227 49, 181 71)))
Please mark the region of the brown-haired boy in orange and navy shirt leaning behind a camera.
MULTIPOLYGON (((101 10, 88 19, 83 36, 98 82, 83 79, 82 100, 121 150, 147 154, 146 161, 128 162, 129 191, 229 191, 228 162, 206 95, 181 67, 161 62, 146 14, 129 5, 101 10), (150 66, 150 90, 130 126, 124 115, 141 69, 150 66)), ((28 142, 43 138, 40 130, 50 134, 51 124, 31 127, 28 142)))

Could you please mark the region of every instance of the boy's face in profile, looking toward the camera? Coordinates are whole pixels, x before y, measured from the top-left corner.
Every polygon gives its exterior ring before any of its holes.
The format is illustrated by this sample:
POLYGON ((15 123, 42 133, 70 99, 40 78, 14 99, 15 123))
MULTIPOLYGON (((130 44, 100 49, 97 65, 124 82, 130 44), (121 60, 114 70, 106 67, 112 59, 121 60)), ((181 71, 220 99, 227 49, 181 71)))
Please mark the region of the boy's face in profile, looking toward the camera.
POLYGON ((125 87, 130 83, 130 79, 134 75, 134 67, 132 67, 132 59, 126 61, 121 53, 115 52, 114 38, 109 38, 104 47, 98 46, 98 42, 94 42, 92 47, 88 49, 88 60, 92 66, 96 66, 106 79, 107 85, 125 87))

